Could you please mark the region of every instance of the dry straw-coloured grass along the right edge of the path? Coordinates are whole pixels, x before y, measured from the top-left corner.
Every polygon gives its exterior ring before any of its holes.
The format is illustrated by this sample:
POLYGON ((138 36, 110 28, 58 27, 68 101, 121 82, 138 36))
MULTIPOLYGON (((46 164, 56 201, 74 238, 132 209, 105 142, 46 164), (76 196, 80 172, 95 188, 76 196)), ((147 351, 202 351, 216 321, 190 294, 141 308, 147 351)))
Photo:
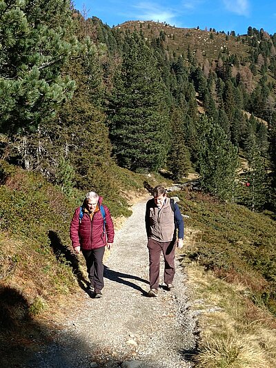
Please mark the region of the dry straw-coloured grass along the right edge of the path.
POLYGON ((275 318, 248 299, 246 286, 219 280, 196 263, 186 272, 202 331, 196 366, 275 368, 275 318))

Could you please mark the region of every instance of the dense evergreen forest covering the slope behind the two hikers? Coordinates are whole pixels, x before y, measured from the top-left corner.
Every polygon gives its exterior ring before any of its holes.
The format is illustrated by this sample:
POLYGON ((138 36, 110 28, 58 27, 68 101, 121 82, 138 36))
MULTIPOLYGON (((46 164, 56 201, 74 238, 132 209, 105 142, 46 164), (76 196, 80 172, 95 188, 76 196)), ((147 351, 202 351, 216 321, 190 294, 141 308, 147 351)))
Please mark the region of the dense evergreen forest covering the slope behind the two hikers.
POLYGON ((68 195, 116 193, 118 166, 192 171, 221 200, 275 212, 276 34, 110 28, 62 0, 0 10, 2 159, 68 195))

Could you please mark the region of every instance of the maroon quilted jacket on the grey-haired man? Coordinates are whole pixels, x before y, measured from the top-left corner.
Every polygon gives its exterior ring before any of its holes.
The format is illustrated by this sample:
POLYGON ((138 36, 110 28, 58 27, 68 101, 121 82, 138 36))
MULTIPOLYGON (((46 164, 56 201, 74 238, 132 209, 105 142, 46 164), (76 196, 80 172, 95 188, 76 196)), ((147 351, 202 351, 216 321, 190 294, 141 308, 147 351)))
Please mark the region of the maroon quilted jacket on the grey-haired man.
MULTIPOLYGON (((99 197, 99 205, 102 202, 102 197, 99 197)), ((112 243, 114 240, 114 226, 108 207, 103 206, 106 212, 106 232, 103 232, 103 216, 101 211, 94 213, 92 220, 88 212, 83 213, 81 223, 79 224, 78 207, 75 209, 74 216, 70 224, 70 239, 72 246, 81 246, 83 250, 90 250, 105 246, 106 243, 112 243)))

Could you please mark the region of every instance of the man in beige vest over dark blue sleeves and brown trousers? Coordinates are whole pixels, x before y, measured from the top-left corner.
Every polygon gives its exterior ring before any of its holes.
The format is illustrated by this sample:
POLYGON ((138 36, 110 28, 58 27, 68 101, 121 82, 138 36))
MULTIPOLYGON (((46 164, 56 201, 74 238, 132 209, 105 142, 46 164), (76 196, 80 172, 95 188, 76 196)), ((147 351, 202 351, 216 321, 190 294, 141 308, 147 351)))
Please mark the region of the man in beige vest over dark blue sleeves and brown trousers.
POLYGON ((164 255, 164 282, 167 290, 175 286, 175 247, 183 246, 184 221, 179 206, 166 195, 164 186, 155 186, 153 198, 146 204, 146 233, 150 260, 150 291, 148 296, 158 295, 160 255, 164 255), (178 230, 178 234, 177 234, 178 230))

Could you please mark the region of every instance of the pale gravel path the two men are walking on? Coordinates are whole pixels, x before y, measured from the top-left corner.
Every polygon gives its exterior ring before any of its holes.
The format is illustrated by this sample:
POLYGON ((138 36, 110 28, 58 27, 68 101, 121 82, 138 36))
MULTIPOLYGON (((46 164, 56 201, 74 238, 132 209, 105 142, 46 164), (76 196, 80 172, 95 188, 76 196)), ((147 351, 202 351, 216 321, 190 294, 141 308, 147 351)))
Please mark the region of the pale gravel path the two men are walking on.
MULTIPOLYGON (((196 321, 188 309, 186 275, 177 262, 173 291, 148 298, 146 200, 116 232, 106 262, 103 298, 86 295, 52 344, 29 362, 31 368, 180 368, 196 345, 196 321)), ((163 263, 161 264, 163 267, 163 263)))

